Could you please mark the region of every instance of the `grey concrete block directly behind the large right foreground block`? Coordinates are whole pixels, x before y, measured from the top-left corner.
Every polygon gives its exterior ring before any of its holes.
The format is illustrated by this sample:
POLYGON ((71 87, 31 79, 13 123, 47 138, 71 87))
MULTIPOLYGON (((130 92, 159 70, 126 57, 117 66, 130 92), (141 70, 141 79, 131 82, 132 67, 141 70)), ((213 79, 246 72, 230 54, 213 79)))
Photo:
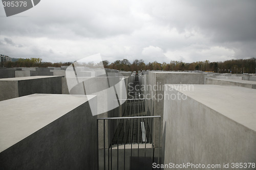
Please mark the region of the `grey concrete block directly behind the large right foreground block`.
MULTIPOLYGON (((153 100, 153 115, 160 115, 161 117, 163 116, 164 84, 204 84, 204 75, 194 72, 150 71, 147 79, 149 85, 147 93, 149 95, 146 98, 153 100)), ((159 126, 162 128, 162 122, 161 125, 156 124, 155 129, 159 129, 159 126)), ((154 139, 158 141, 156 131, 153 135, 156 136, 154 139)))

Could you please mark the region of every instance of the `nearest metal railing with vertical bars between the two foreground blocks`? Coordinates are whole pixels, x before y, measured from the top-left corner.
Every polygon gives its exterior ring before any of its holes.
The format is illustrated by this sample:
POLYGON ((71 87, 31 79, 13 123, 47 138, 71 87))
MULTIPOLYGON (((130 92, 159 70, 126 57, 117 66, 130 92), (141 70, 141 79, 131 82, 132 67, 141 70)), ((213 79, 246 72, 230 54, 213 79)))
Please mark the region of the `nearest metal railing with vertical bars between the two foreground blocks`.
MULTIPOLYGON (((102 169, 125 169, 127 166, 131 166, 133 164, 132 157, 137 155, 138 160, 142 160, 144 156, 144 165, 146 163, 150 163, 152 167, 152 163, 156 161, 155 159, 155 147, 154 147, 154 136, 153 129, 154 124, 153 121, 159 120, 161 116, 132 116, 132 117, 106 117, 106 118, 98 118, 97 119, 97 154, 98 154, 98 169, 99 164, 102 169), (99 161, 99 121, 103 121, 103 161, 99 161), (106 140, 106 130, 105 130, 105 122, 108 121, 108 124, 116 124, 118 125, 115 130, 114 138, 111 138, 111 141, 106 140), (108 141, 108 146, 106 146, 106 141, 108 141), (122 150, 120 152, 119 150, 122 150), (133 154, 133 149, 137 149, 137 152, 133 154), (113 154, 113 150, 115 150, 115 154, 113 154), (144 153, 141 154, 141 152, 144 153), (106 154, 106 152, 108 152, 106 154), (123 154, 122 156, 119 154, 123 154), (151 159, 148 161, 148 155, 150 153, 151 159), (142 156, 143 155, 143 156, 142 156), (108 157, 108 158, 106 158, 108 157), (121 159, 123 158, 123 159, 121 159), (129 161, 130 159, 130 161, 129 161), (115 162, 115 163, 113 163, 115 162), (123 165, 120 165, 123 163, 123 165)), ((100 124, 102 125, 102 124, 100 124)), ((160 126, 159 126, 159 145, 160 145, 160 126)), ((101 154, 102 155, 102 154, 101 154)), ((157 162, 160 159, 160 149, 158 149, 157 162)), ((136 163, 136 162, 134 162, 136 163)), ((145 166, 143 166, 145 167, 145 166)), ((128 168, 127 168, 128 169, 128 168)))

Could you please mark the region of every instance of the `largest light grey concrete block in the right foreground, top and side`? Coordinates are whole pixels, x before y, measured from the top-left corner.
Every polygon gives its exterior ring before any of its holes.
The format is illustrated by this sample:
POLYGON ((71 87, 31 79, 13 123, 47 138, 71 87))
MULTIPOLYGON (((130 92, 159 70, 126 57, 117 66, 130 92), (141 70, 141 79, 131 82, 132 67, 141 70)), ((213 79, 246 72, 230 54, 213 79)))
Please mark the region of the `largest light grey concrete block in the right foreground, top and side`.
MULTIPOLYGON (((223 85, 166 85, 164 163, 221 164, 256 160, 256 91, 223 85), (183 95, 185 100, 174 100, 183 95), (173 96, 168 98, 168 96, 173 96)), ((191 169, 191 168, 188 168, 191 169)), ((253 169, 253 168, 250 168, 253 169)))

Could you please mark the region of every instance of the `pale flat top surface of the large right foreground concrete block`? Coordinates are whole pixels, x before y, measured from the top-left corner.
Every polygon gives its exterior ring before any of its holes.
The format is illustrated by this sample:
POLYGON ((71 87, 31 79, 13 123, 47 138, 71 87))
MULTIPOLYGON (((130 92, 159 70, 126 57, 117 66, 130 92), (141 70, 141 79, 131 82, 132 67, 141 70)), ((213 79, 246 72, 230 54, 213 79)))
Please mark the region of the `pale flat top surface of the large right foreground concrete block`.
POLYGON ((167 86, 256 132, 255 89, 227 85, 167 86))

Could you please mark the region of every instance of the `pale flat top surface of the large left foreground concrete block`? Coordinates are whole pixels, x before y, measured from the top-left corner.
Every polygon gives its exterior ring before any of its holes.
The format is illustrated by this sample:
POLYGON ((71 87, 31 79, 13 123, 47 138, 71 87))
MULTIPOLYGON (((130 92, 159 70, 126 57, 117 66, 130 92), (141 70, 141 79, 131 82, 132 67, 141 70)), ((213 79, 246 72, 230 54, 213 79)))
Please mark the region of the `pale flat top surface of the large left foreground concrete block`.
POLYGON ((94 97, 32 94, 0 102, 0 152, 94 97))

